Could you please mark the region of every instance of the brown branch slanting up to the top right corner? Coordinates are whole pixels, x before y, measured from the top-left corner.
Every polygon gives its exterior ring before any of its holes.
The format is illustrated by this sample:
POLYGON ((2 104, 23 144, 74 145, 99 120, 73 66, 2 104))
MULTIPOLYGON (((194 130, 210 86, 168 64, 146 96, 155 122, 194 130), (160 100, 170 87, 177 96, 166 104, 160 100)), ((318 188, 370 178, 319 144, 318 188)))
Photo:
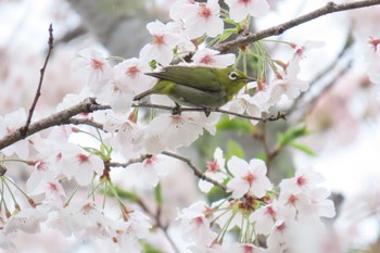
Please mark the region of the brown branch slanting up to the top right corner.
POLYGON ((337 4, 334 2, 328 2, 325 7, 320 9, 317 9, 313 12, 309 12, 305 15, 299 16, 294 20, 288 21, 280 25, 273 26, 270 28, 267 28, 254 34, 249 34, 243 37, 239 37, 235 40, 220 43, 218 47, 216 47, 216 49, 220 52, 227 52, 233 47, 251 43, 270 36, 281 35, 287 29, 293 28, 297 25, 301 25, 303 23, 309 22, 312 20, 318 18, 327 14, 358 9, 358 8, 366 8, 366 7, 377 5, 377 4, 380 4, 380 0, 365 0, 365 1, 355 1, 355 2, 347 2, 347 3, 341 3, 341 4, 337 4))

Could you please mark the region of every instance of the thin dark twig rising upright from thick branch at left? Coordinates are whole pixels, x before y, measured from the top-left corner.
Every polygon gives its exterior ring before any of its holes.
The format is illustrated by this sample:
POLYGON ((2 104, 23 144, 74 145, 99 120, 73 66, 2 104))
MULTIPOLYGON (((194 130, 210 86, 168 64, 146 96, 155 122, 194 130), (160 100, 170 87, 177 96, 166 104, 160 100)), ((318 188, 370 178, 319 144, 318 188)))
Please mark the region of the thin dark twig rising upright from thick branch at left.
POLYGON ((53 25, 50 24, 50 26, 49 26, 49 40, 48 40, 48 45, 49 45, 48 54, 47 54, 47 58, 45 59, 45 63, 43 63, 42 68, 39 71, 39 73, 40 73, 39 83, 38 83, 37 91, 36 91, 36 94, 35 94, 35 99, 34 99, 34 101, 31 103, 31 106, 29 109, 29 113, 28 113, 28 117, 26 119, 26 124, 25 124, 24 128, 21 130, 21 134, 22 134, 22 136, 24 138, 28 134, 28 130, 29 130, 28 128, 29 128, 29 125, 30 125, 30 122, 31 122, 33 113, 35 112, 38 99, 41 96, 41 87, 42 87, 42 81, 43 81, 43 77, 45 77, 45 71, 47 69, 48 62, 49 62, 49 59, 50 59, 50 54, 53 51, 53 41, 54 41, 53 25))

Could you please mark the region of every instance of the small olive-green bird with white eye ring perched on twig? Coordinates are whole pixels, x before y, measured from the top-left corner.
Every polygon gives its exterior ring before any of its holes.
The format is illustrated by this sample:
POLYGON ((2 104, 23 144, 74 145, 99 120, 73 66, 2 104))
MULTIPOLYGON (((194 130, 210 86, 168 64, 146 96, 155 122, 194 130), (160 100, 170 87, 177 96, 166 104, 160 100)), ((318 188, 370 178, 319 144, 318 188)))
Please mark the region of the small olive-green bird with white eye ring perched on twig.
POLYGON ((150 94, 166 94, 176 106, 217 109, 229 102, 246 84, 255 81, 235 67, 166 66, 160 72, 144 73, 159 81, 134 101, 150 94))

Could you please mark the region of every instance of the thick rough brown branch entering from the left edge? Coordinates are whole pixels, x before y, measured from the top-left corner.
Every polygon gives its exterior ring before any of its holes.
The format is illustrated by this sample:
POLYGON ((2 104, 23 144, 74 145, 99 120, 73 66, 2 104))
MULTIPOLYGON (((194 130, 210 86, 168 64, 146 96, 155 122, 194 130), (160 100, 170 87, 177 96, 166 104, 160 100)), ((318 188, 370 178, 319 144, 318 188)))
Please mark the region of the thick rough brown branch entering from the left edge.
POLYGON ((43 119, 30 124, 26 136, 23 134, 25 129, 24 126, 20 127, 18 129, 15 129, 10 135, 0 139, 0 150, 9 147, 10 144, 15 143, 18 140, 25 139, 26 137, 31 136, 35 132, 48 129, 52 126, 71 124, 69 119, 73 116, 78 115, 80 113, 91 113, 94 111, 107 109, 111 109, 111 106, 98 104, 94 98, 87 98, 76 105, 73 105, 66 110, 54 113, 43 119))

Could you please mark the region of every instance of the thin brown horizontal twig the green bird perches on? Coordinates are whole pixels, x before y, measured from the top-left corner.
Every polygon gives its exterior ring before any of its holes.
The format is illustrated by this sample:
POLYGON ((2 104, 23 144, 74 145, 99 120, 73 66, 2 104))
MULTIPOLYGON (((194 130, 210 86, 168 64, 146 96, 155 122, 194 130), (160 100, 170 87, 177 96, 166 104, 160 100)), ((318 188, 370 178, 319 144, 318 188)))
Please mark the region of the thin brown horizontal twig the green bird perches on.
POLYGON ((268 117, 255 117, 250 116, 245 114, 235 113, 230 111, 226 111, 223 109, 204 109, 204 107, 176 107, 176 106, 167 106, 167 105, 161 105, 161 104, 151 104, 151 103, 141 103, 141 104, 134 104, 134 107, 148 107, 148 109, 159 109, 159 110, 165 110, 170 111, 172 114, 180 114, 182 112, 215 112, 215 113, 224 113, 228 115, 233 115, 237 117, 248 118, 252 121, 258 121, 258 122, 275 122, 279 119, 287 119, 287 113, 278 112, 277 115, 270 115, 268 117))

